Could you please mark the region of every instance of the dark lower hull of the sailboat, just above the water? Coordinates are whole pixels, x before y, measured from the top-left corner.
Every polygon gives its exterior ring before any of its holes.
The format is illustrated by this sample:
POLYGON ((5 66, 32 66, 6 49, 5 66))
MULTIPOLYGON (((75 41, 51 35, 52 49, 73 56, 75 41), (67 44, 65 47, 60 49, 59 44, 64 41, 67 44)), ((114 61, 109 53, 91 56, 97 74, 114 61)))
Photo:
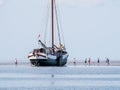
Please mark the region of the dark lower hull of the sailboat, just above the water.
POLYGON ((34 66, 64 66, 67 63, 67 59, 62 60, 30 59, 30 62, 34 66))

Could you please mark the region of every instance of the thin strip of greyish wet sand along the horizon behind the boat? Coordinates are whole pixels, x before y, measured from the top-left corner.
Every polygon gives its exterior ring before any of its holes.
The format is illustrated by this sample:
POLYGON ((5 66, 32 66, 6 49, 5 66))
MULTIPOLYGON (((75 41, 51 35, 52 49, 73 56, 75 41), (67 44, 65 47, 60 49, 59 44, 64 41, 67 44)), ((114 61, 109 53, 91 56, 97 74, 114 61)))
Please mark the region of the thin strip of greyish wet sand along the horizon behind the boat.
MULTIPOLYGON (((0 62, 0 65, 16 65, 15 62, 0 62)), ((17 65, 31 65, 30 62, 18 61, 17 65)), ((109 61, 109 64, 106 61, 91 61, 90 63, 85 63, 84 61, 70 61, 68 60, 67 66, 77 65, 77 66, 120 66, 120 61, 109 61)))

